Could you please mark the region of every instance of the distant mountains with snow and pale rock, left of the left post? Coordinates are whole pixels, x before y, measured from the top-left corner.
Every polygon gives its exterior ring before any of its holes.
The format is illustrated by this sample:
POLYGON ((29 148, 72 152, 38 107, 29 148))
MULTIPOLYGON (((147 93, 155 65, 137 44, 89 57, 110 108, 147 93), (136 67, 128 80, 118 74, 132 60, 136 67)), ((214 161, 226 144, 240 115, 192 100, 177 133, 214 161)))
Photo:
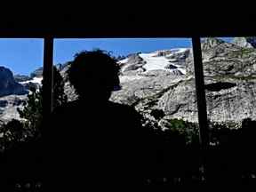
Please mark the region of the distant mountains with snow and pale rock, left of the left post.
MULTIPOLYGON (((62 74, 66 66, 68 63, 59 66, 62 74)), ((23 108, 29 90, 42 86, 42 80, 43 68, 37 68, 30 76, 13 76, 10 69, 0 67, 0 120, 20 119, 17 108, 23 108)))

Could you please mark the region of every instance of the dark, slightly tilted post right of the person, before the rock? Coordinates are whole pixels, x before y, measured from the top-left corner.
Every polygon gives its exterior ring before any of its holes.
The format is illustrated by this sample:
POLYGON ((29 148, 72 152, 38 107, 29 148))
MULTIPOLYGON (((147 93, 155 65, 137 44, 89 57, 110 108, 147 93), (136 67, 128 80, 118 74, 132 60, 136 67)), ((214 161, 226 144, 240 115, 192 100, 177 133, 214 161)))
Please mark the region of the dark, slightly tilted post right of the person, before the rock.
POLYGON ((206 179, 206 155, 209 146, 209 132, 207 122, 207 108, 204 91, 204 68, 202 61, 202 50, 200 36, 192 37, 193 44, 193 57, 194 57, 194 70, 196 81, 196 101, 198 109, 198 123, 199 123, 199 140, 201 144, 202 152, 202 168, 204 173, 204 179, 206 179))

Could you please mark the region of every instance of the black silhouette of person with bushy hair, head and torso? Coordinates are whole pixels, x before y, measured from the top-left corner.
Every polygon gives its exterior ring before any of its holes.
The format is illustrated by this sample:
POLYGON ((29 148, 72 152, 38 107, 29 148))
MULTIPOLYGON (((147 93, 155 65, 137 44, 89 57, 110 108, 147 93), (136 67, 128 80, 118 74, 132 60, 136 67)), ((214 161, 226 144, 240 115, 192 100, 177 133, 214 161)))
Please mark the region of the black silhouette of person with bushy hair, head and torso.
POLYGON ((118 73, 116 60, 105 52, 76 54, 68 79, 78 99, 55 108, 45 128, 51 134, 45 176, 54 188, 83 191, 141 184, 153 156, 145 149, 150 147, 140 115, 109 101, 120 88, 118 73))

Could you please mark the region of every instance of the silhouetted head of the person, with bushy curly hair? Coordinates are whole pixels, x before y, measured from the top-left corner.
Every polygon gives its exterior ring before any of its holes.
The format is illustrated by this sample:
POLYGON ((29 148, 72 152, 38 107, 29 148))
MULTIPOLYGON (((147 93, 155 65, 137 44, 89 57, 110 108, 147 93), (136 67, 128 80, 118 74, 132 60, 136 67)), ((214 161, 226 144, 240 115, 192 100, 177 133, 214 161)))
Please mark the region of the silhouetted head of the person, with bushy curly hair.
POLYGON ((119 66, 108 52, 84 51, 75 55, 68 79, 80 98, 108 100, 111 92, 120 89, 119 66))

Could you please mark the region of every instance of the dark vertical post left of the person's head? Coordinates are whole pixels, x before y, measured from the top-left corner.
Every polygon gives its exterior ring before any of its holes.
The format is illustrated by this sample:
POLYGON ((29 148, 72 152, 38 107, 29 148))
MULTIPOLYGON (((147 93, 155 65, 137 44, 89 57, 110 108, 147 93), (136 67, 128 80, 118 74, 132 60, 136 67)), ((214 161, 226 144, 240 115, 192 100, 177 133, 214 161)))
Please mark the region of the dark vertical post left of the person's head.
MULTIPOLYGON (((43 71, 43 118, 47 121, 52 112, 52 59, 53 37, 44 37, 44 71, 43 71)), ((43 126, 44 127, 44 126, 43 126)))

